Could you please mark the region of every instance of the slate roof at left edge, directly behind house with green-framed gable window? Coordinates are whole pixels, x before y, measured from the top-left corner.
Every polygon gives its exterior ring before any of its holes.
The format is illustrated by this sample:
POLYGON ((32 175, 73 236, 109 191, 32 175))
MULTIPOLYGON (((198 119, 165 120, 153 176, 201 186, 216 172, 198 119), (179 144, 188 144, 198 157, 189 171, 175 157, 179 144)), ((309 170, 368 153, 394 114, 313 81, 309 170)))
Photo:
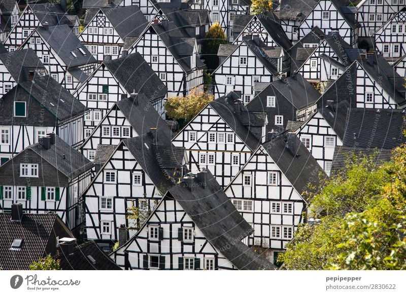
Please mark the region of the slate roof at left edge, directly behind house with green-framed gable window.
POLYGON ((32 49, 20 49, 0 54, 0 60, 16 82, 25 81, 30 70, 46 68, 32 49))

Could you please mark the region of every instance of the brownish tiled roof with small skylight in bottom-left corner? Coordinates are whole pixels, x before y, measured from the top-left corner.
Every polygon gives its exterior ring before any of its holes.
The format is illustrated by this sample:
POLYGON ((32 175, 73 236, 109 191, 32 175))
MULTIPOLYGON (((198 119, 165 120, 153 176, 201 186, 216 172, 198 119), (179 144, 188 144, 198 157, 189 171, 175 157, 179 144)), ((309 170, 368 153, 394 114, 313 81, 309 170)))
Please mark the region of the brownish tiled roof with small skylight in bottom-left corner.
POLYGON ((44 257, 48 245, 55 243, 50 236, 56 223, 72 236, 57 214, 23 214, 21 222, 12 222, 11 213, 0 213, 0 269, 28 270, 32 262, 44 257), (23 239, 21 250, 10 250, 14 239, 23 239))

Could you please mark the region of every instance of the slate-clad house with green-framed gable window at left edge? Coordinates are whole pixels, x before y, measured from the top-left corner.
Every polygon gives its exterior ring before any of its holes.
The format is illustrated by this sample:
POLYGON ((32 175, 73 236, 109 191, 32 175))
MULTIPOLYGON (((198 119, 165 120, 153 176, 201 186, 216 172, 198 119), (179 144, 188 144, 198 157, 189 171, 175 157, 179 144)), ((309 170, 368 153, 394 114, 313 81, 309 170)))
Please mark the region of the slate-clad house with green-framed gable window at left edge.
POLYGON ((48 132, 74 147, 83 142, 86 107, 50 76, 18 83, 0 104, 2 163, 48 132))

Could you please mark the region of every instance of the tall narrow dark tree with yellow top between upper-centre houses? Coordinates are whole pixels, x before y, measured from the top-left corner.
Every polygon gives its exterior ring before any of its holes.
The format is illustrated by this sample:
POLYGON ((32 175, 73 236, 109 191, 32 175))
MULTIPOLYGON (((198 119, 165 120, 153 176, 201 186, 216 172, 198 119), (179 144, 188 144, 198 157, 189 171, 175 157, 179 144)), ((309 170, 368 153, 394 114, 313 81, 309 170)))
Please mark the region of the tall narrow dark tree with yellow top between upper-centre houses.
POLYGON ((201 49, 201 57, 205 60, 209 70, 215 70, 219 65, 217 52, 220 44, 227 44, 227 36, 218 22, 214 23, 205 36, 201 49))

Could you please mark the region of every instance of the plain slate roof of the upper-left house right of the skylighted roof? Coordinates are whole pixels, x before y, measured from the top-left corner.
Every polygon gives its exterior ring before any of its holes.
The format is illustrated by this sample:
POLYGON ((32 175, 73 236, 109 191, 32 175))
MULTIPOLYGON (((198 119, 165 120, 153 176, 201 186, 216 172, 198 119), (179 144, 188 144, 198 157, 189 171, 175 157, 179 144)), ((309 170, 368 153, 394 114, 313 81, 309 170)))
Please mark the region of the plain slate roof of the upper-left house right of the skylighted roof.
POLYGON ((126 37, 138 37, 148 22, 137 5, 101 9, 124 41, 126 37))

